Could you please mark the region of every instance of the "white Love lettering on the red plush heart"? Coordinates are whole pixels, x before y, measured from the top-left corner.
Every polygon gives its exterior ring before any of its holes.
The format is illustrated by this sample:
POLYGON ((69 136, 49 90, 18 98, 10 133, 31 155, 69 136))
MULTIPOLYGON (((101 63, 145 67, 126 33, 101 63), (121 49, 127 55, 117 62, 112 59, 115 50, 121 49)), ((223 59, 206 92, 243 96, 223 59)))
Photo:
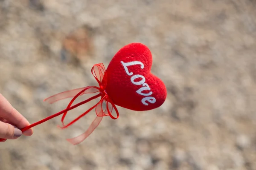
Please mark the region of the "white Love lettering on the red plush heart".
MULTIPOLYGON (((126 63, 123 62, 123 61, 121 61, 121 63, 122 63, 122 65, 123 65, 123 67, 125 68, 126 74, 129 75, 129 76, 133 75, 133 72, 129 72, 127 66, 139 64, 141 69, 144 68, 144 64, 143 64, 142 62, 140 62, 140 61, 126 62, 126 63)), ((145 83, 145 81, 146 81, 146 80, 145 80, 145 77, 142 76, 142 75, 140 75, 140 74, 136 74, 136 75, 134 75, 134 76, 131 77, 131 82, 132 82, 134 85, 142 85, 142 86, 143 86, 143 87, 141 87, 139 90, 137 90, 136 92, 137 92, 137 94, 140 94, 140 95, 142 95, 142 96, 147 96, 147 97, 144 97, 144 98, 141 100, 141 102, 143 103, 143 105, 146 105, 146 106, 147 106, 148 103, 146 103, 146 101, 148 101, 149 103, 155 103, 155 102, 156 102, 156 99, 155 99, 154 97, 150 96, 150 95, 152 95, 153 93, 152 93, 152 91, 150 91, 151 89, 150 89, 150 87, 148 86, 148 84, 145 83), (139 79, 139 78, 141 78, 141 80, 135 82, 135 80, 136 80, 136 79, 139 79), (149 92, 149 93, 143 93, 143 91, 145 91, 145 90, 149 90, 150 92, 149 92)))

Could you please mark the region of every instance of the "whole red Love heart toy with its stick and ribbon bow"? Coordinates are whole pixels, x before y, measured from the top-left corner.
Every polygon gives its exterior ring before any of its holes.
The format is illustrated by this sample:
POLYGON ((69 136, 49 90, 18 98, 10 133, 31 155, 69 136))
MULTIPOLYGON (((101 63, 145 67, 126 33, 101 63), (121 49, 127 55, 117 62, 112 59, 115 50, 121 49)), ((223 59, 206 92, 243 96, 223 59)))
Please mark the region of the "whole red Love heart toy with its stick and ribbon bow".
MULTIPOLYGON (((112 119, 119 117, 116 105, 134 111, 148 111, 160 107, 166 99, 167 91, 164 83, 151 74, 152 55, 148 47, 141 43, 131 43, 121 48, 113 57, 107 70, 102 63, 93 66, 91 72, 99 83, 97 86, 87 86, 69 91, 64 91, 48 97, 44 101, 54 103, 62 99, 73 97, 67 108, 42 119, 32 125, 26 126, 21 131, 26 131, 31 127, 39 125, 63 114, 61 118, 62 129, 67 128, 95 109, 96 118, 90 127, 81 135, 72 139, 67 139, 72 144, 79 144, 86 139, 102 121, 103 116, 110 116, 112 119), (81 95, 96 94, 82 102, 72 105, 81 95), (64 124, 67 112, 100 97, 100 101, 90 109, 82 113, 68 124, 64 124), (103 104, 106 104, 105 106, 103 104), (116 112, 116 116, 112 115, 116 112)), ((3 141, 4 139, 0 139, 3 141)))

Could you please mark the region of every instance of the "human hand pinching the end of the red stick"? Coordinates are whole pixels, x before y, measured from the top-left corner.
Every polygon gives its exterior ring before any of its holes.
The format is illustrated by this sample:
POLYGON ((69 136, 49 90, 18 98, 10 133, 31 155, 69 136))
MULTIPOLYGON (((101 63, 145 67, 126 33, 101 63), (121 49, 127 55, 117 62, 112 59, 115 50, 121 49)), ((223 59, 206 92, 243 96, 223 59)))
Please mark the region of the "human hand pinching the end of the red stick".
MULTIPOLYGON (((33 134, 32 128, 24 132, 20 130, 29 125, 29 121, 13 108, 7 99, 0 94, 0 138, 6 140, 17 139, 22 134, 31 136, 33 134)), ((1 142, 5 142, 6 140, 1 142)))

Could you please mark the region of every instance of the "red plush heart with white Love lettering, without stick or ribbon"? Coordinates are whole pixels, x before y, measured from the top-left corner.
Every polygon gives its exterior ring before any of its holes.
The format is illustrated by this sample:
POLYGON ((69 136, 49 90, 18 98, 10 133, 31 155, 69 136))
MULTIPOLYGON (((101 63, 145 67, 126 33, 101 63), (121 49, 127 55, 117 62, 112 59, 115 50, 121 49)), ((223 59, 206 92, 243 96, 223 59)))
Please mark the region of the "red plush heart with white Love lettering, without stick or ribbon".
POLYGON ((121 48, 106 70, 106 92, 116 105, 134 111, 160 107, 167 91, 163 81, 151 74, 152 55, 147 46, 131 43, 121 48))

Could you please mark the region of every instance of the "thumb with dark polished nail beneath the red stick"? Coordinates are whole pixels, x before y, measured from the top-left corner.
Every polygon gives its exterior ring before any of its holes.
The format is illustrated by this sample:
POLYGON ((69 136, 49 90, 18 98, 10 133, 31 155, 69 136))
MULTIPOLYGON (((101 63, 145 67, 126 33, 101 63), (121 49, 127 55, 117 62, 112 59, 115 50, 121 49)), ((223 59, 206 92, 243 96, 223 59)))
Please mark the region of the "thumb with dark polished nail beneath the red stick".
POLYGON ((0 138, 17 139, 21 135, 22 135, 22 132, 17 127, 9 123, 0 122, 0 138))

